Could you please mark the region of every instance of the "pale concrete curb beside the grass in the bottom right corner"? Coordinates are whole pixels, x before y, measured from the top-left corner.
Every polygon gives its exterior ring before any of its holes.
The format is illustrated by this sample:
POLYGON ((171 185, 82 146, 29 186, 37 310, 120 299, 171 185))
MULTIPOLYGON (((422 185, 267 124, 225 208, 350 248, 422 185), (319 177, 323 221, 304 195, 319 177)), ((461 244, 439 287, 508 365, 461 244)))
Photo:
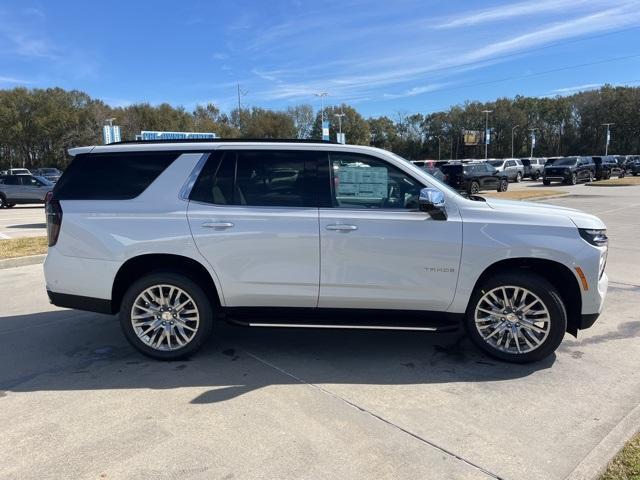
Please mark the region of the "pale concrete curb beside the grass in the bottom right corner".
POLYGON ((565 480, 595 480, 609 462, 640 430, 640 405, 637 405, 591 450, 565 480))

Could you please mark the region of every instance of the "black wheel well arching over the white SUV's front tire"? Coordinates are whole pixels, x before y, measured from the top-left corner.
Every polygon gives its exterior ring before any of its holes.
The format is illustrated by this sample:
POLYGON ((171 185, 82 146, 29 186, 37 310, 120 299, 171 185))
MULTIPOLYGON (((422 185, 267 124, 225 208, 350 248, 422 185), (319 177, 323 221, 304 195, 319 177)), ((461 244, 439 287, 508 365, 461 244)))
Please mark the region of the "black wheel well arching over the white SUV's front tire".
POLYGON ((580 315, 582 312, 582 295, 575 275, 569 268, 561 263, 541 258, 510 258, 508 260, 501 260, 482 272, 482 275, 480 275, 480 278, 478 278, 474 286, 474 291, 478 285, 481 285, 487 278, 497 273, 513 273, 514 270, 534 272, 558 289, 567 310, 567 332, 576 335, 578 333, 578 325, 580 324, 580 315))

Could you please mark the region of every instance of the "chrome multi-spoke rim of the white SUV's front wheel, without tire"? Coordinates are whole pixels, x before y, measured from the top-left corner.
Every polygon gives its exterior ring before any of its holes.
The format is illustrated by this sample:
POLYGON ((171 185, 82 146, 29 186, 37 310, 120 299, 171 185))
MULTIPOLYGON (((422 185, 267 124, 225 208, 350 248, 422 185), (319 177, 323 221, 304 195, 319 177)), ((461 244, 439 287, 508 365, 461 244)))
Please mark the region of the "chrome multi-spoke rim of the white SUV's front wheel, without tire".
POLYGON ((551 316, 540 297, 522 287, 503 286, 480 298, 474 313, 480 337, 505 353, 529 353, 549 336, 551 316))

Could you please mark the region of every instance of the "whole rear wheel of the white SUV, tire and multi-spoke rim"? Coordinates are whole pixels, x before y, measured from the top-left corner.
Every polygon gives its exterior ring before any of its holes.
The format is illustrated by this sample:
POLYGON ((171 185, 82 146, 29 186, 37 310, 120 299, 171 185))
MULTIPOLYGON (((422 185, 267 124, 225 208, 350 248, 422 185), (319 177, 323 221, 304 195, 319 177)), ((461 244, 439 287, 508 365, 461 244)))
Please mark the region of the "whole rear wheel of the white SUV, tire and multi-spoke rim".
POLYGON ((154 272, 129 287, 120 326, 138 351, 174 360, 198 350, 211 334, 213 312, 202 288, 177 272, 154 272))

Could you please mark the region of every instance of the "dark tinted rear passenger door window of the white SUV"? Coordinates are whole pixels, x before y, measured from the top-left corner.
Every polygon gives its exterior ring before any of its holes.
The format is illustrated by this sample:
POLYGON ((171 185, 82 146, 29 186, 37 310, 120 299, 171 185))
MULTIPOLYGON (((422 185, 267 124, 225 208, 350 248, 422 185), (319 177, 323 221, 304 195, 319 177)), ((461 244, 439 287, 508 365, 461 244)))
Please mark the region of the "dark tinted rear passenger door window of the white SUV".
POLYGON ((190 199, 215 205, 317 206, 318 159, 313 151, 224 151, 209 158, 190 199))

